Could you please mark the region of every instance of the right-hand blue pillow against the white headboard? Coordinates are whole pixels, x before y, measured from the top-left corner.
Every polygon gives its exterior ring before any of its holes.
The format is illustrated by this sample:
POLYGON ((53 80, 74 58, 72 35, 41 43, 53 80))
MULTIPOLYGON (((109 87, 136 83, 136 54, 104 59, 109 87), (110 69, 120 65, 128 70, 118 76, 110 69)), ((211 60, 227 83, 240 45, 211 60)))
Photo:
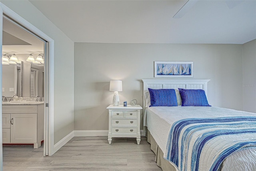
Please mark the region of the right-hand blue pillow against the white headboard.
POLYGON ((181 106, 211 106, 208 104, 204 90, 179 88, 181 106))

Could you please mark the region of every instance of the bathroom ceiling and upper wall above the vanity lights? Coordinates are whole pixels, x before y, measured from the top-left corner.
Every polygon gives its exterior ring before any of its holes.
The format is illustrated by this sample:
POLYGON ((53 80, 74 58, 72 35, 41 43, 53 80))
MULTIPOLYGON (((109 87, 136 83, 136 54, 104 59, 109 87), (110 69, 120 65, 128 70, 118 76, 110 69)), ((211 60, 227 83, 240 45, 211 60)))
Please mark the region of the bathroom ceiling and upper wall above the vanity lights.
POLYGON ((4 18, 2 53, 30 54, 33 52, 44 52, 44 42, 4 18))

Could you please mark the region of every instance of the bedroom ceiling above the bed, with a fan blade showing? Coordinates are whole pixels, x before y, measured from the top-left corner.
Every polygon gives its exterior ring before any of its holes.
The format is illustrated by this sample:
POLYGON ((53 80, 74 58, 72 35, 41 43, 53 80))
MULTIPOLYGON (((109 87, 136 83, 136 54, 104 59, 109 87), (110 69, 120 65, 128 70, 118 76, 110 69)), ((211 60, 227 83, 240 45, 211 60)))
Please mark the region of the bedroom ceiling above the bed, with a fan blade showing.
POLYGON ((30 2, 74 42, 244 44, 256 39, 256 0, 30 2), (182 6, 184 15, 173 18, 182 6))

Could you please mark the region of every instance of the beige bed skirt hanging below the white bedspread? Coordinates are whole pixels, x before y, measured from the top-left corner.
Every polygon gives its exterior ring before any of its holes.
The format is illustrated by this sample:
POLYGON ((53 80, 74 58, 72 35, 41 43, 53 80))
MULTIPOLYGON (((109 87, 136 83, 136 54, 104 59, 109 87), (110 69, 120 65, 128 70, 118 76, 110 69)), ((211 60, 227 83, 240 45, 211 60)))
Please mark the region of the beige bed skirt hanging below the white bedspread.
POLYGON ((151 150, 156 155, 156 158, 155 158, 156 165, 161 167, 163 171, 176 171, 175 167, 172 166, 172 164, 168 160, 164 159, 164 153, 160 149, 160 147, 157 145, 152 135, 150 134, 150 131, 147 131, 147 132, 148 132, 147 141, 151 145, 150 147, 151 150))

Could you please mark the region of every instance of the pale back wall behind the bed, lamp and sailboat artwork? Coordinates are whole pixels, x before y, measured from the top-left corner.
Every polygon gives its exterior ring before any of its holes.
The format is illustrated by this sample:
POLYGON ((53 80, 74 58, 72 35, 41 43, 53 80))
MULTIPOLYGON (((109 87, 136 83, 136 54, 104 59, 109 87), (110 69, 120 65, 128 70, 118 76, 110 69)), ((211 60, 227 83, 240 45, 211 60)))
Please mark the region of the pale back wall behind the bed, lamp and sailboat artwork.
POLYGON ((210 79, 210 105, 242 109, 242 45, 75 43, 74 129, 107 130, 113 92, 122 80, 121 103, 142 105, 142 79, 154 78, 154 61, 193 61, 194 78, 210 79))

